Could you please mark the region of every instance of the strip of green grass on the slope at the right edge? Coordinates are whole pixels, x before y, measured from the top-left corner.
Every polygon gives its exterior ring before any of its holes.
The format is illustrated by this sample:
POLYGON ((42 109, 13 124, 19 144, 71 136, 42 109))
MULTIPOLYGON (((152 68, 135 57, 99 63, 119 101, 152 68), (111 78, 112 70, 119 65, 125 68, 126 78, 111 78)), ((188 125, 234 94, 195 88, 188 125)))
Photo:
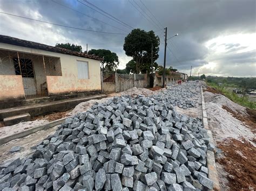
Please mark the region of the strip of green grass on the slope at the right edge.
MULTIPOLYGON (((231 101, 238 103, 246 108, 256 109, 256 102, 252 102, 249 100, 248 96, 240 97, 237 94, 233 93, 233 91, 227 90, 227 84, 223 84, 223 86, 218 86, 217 83, 207 82, 207 85, 216 89, 221 94, 225 95, 231 101)), ((228 86, 230 87, 230 86, 228 86)))

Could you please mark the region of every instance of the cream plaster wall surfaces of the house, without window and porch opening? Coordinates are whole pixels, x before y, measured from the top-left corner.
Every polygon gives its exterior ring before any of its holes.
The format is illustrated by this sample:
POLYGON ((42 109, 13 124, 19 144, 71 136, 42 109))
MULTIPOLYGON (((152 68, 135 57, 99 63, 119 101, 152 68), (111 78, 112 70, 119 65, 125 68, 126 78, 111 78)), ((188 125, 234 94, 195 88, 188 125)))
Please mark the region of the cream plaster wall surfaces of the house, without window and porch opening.
MULTIPOLYGON (((4 43, 0 43, 0 49, 59 57, 60 63, 61 63, 62 76, 46 76, 49 95, 101 90, 100 62, 98 60, 86 59, 79 56, 42 51, 39 49, 9 45, 4 43), (89 79, 78 79, 77 60, 87 61, 89 63, 89 79)), ((1 79, 3 80, 9 79, 9 80, 6 81, 6 84, 4 84, 4 86, 0 87, 0 88, 4 87, 5 89, 5 91, 0 92, 0 98, 3 98, 3 97, 14 98, 17 95, 21 95, 22 92, 24 96, 23 83, 22 83, 21 76, 0 75, 0 80, 1 79), (18 77, 21 79, 20 81, 17 81, 18 77), (16 87, 19 88, 18 92, 16 87), (21 89, 23 91, 21 91, 21 89)))

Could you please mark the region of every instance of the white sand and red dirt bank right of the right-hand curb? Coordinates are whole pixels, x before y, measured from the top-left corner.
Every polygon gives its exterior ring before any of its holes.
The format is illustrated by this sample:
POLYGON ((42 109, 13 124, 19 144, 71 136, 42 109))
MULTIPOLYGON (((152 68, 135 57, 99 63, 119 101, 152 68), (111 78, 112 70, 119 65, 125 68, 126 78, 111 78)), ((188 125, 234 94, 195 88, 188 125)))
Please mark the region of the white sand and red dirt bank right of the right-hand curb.
POLYGON ((221 150, 215 154, 221 190, 255 190, 255 110, 228 100, 213 88, 207 88, 204 95, 208 123, 221 150))

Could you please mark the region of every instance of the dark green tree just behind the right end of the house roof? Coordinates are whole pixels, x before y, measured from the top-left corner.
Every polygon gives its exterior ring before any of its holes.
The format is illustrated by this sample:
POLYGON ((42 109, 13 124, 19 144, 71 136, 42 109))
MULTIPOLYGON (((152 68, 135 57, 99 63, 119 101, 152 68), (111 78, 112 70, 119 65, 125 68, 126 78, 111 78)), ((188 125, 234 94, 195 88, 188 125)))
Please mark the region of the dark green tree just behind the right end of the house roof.
POLYGON ((99 58, 103 58, 103 61, 100 61, 103 73, 113 72, 119 65, 117 54, 111 52, 109 49, 91 49, 88 51, 88 54, 93 54, 99 56, 99 58))

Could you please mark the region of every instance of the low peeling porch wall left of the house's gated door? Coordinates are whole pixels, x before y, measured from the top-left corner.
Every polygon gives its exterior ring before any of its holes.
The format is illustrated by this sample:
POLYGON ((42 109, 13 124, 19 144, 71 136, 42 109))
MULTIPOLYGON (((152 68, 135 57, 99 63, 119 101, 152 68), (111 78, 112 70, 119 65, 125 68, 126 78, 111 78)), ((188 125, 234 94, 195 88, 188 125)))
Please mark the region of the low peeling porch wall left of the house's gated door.
POLYGON ((21 75, 0 75, 0 101, 24 97, 21 75))

